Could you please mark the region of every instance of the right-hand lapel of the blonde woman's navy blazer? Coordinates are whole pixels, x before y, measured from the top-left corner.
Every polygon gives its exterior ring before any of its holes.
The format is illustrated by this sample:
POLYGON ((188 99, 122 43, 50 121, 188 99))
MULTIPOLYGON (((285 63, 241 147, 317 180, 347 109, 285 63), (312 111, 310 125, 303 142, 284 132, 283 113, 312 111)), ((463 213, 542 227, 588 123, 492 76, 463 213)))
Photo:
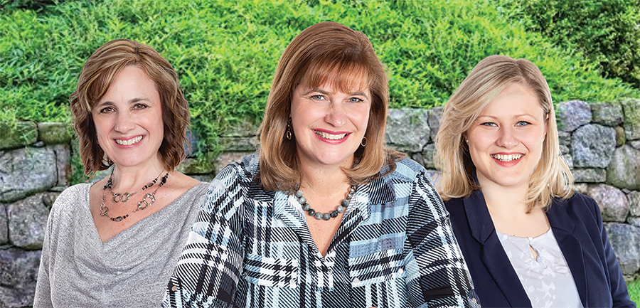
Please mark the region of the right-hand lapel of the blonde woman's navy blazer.
POLYGON ((580 295, 582 307, 587 307, 587 272, 585 270, 585 260, 582 256, 582 246, 573 236, 575 224, 571 218, 563 211, 562 206, 566 206, 564 201, 554 200, 547 211, 549 224, 553 228, 553 235, 560 246, 560 251, 569 265, 575 287, 580 295))

